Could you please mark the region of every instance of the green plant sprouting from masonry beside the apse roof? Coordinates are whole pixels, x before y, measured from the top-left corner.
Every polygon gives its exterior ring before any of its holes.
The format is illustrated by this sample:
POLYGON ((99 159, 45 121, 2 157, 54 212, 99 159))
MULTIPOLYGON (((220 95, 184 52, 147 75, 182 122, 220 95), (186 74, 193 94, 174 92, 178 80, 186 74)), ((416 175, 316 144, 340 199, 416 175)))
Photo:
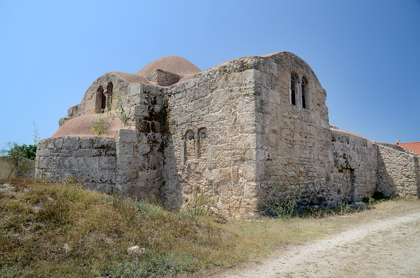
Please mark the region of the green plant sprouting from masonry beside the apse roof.
POLYGON ((124 126, 128 126, 128 118, 126 115, 126 111, 124 110, 123 100, 120 95, 120 91, 117 91, 115 95, 109 101, 109 106, 111 107, 112 101, 115 101, 115 106, 112 111, 104 111, 101 110, 99 113, 98 120, 93 124, 92 128, 90 129, 91 132, 95 133, 96 135, 104 135, 107 134, 108 128, 110 126, 109 119, 115 120, 118 118, 121 120, 124 126))

